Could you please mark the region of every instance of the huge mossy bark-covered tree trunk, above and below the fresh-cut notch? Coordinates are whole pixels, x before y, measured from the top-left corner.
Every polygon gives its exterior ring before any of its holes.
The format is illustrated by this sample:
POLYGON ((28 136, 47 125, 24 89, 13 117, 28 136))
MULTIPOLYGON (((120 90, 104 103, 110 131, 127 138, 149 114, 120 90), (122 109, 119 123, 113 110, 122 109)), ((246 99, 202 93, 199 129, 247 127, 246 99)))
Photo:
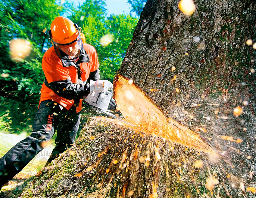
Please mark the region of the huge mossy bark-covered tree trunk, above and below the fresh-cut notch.
POLYGON ((177 5, 148 0, 117 73, 218 156, 94 119, 23 197, 255 197, 255 1, 177 5))

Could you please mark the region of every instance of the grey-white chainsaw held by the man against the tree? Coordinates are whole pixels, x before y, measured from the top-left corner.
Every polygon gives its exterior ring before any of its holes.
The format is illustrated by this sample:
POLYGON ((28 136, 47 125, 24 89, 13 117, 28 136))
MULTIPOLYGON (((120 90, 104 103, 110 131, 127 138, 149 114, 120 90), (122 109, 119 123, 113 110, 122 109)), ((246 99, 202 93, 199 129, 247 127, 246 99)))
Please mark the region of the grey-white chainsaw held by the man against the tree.
POLYGON ((115 99, 113 98, 113 93, 111 93, 110 91, 107 91, 106 93, 93 91, 85 98, 85 101, 96 112, 103 113, 115 119, 121 120, 118 116, 113 114, 113 112, 116 110, 117 105, 115 99))

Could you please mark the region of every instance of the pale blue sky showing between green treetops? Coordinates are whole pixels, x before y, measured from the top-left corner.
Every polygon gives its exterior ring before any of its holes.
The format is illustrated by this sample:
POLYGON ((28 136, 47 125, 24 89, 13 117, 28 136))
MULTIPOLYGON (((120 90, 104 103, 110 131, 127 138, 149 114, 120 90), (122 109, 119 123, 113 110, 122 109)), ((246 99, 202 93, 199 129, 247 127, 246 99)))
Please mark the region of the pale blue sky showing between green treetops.
MULTIPOLYGON (((70 0, 74 2, 74 5, 82 4, 84 0, 70 0)), ((130 13, 130 4, 127 3, 127 0, 106 0, 106 8, 108 10, 108 16, 110 14, 128 14, 130 13)))

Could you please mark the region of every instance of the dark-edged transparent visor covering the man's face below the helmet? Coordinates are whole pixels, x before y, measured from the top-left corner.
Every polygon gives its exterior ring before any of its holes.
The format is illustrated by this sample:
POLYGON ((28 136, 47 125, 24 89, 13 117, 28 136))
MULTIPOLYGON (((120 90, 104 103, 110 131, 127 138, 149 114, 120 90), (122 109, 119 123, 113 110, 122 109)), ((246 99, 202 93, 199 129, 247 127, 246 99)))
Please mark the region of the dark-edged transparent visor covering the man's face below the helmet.
POLYGON ((83 53, 83 42, 80 34, 75 41, 69 44, 58 44, 55 42, 53 44, 57 55, 64 60, 74 60, 79 58, 83 53))

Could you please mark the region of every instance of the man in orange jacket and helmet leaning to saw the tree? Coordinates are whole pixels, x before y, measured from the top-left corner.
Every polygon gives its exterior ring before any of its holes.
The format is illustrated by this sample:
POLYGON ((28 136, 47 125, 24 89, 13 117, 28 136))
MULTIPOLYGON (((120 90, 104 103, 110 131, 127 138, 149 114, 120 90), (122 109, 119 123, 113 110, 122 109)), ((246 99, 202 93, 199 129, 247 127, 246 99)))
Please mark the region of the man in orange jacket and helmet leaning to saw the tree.
POLYGON ((0 159, 0 184, 7 183, 39 153, 58 130, 55 148, 47 162, 70 148, 80 124, 83 97, 92 91, 113 89, 111 82, 99 80, 96 50, 83 44, 84 35, 71 20, 58 16, 49 31, 53 46, 42 59, 42 84, 33 131, 0 159))

